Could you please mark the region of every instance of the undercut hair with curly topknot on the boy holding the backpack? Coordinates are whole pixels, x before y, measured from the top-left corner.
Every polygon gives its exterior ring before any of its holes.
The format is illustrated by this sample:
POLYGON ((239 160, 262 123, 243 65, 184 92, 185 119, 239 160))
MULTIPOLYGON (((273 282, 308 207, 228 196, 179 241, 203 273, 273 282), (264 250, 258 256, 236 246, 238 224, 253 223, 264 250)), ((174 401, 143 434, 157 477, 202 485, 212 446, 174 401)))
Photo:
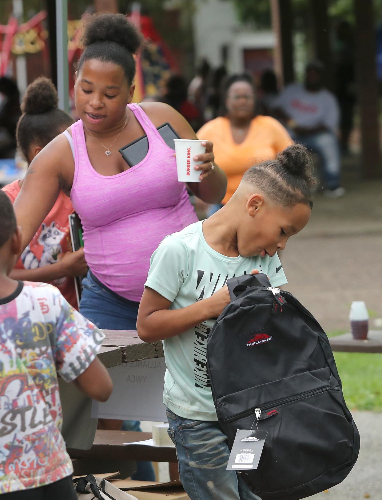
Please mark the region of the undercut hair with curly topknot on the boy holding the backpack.
POLYGON ((311 155, 302 144, 288 146, 277 153, 276 159, 251 166, 242 179, 285 208, 296 203, 313 206, 317 179, 311 155))

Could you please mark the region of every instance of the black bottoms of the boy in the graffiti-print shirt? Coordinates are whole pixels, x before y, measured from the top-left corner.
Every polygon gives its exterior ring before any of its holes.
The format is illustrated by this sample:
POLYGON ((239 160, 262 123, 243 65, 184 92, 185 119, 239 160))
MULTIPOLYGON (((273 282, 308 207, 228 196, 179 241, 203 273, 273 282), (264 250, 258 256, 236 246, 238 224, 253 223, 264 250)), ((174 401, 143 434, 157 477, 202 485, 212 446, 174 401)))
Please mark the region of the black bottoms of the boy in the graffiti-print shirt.
POLYGON ((39 488, 3 493, 1 500, 77 500, 71 475, 39 488))

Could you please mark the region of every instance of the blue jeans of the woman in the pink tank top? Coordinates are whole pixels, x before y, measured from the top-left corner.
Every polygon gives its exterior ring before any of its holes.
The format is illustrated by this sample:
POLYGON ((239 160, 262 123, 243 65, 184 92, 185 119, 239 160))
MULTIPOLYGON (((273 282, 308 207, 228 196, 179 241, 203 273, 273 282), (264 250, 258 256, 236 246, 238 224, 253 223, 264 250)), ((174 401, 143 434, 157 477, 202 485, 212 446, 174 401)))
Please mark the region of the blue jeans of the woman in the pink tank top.
MULTIPOLYGON (((88 271, 82 280, 79 311, 98 328, 108 330, 136 330, 136 316, 139 302, 127 300, 106 288, 88 271)), ((125 420, 122 430, 141 432, 138 420, 125 420)), ((151 462, 136 462, 136 472, 131 476, 137 481, 154 481, 155 473, 151 462)))

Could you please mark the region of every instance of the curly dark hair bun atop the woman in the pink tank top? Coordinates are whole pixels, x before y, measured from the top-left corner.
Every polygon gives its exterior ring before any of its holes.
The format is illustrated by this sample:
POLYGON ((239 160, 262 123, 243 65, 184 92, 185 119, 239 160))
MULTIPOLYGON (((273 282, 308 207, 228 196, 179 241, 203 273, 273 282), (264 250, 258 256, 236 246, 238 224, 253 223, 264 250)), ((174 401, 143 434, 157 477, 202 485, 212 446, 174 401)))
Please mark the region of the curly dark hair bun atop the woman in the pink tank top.
POLYGON ((135 54, 141 43, 141 35, 123 14, 92 14, 85 21, 81 42, 87 47, 95 42, 112 41, 135 54))

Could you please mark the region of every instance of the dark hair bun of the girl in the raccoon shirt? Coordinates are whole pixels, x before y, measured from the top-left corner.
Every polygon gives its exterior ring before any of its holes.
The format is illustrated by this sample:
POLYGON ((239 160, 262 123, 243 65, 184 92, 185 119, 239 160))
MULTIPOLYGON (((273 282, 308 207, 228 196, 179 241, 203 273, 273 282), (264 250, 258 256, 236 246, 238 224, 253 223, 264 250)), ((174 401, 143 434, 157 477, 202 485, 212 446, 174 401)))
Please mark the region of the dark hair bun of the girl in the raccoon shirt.
POLYGON ((39 76, 30 83, 22 97, 21 111, 27 114, 42 114, 57 107, 58 97, 53 82, 39 76))

